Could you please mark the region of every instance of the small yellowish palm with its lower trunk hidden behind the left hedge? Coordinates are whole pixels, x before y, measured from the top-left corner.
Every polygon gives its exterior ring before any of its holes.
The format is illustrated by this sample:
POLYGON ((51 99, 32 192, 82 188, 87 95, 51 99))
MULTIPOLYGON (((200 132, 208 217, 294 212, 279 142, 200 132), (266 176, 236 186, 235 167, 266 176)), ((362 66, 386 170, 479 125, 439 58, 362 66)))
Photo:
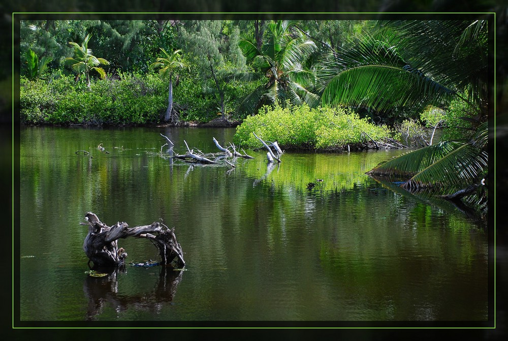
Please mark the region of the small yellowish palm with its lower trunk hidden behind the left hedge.
POLYGON ((90 90, 90 71, 96 71, 101 79, 106 78, 106 71, 99 65, 109 65, 109 61, 104 58, 98 58, 92 54, 92 50, 88 48, 88 41, 91 35, 86 35, 83 43, 78 45, 75 42, 69 42, 74 47, 74 57, 66 58, 66 62, 72 64, 72 69, 78 73, 86 75, 86 86, 90 90))

